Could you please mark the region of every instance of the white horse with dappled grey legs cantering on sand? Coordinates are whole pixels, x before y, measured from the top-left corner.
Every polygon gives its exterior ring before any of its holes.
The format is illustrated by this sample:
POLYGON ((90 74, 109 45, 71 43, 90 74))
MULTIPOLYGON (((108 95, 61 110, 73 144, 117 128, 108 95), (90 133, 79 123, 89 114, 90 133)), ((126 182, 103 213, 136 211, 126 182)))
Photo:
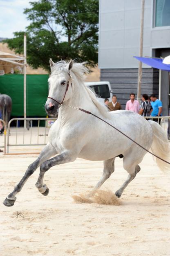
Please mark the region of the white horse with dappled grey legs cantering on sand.
MULTIPOLYGON (((117 197, 121 196, 125 187, 140 171, 139 163, 146 154, 145 150, 98 118, 67 106, 91 111, 147 150, 151 147, 154 154, 169 159, 170 149, 163 129, 156 122, 146 121, 142 116, 131 111, 108 112, 106 107, 98 102, 95 94, 84 85, 83 77, 87 69, 83 64, 74 63, 72 60, 69 63, 65 61, 54 63, 50 59, 50 87, 45 109, 47 114, 55 116, 58 107, 61 103, 63 105, 59 108, 58 120, 49 130, 49 143, 38 159, 29 165, 23 178, 4 200, 4 205, 14 204, 16 194, 38 166, 40 166, 40 174, 36 187, 42 195, 49 193, 49 189, 43 183, 45 172, 51 166, 73 162, 77 157, 104 161, 103 176, 94 187, 94 193, 114 172, 116 156, 123 155, 123 168, 129 174, 125 183, 116 191, 117 197)), ((157 159, 157 164, 162 170, 169 169, 169 165, 160 159, 157 159)))

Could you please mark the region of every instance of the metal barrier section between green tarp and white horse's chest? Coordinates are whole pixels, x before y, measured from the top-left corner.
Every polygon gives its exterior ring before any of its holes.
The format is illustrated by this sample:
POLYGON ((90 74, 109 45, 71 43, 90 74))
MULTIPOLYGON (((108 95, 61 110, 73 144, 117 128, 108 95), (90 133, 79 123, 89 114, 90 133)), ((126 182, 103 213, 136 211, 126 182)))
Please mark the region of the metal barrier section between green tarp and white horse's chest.
POLYGON ((13 118, 9 121, 7 130, 7 154, 9 153, 10 146, 36 146, 46 145, 46 136, 48 135, 47 121, 54 121, 56 118, 13 118), (37 126, 33 126, 33 121, 38 121, 37 126), (40 121, 45 120, 45 126, 40 127, 40 121), (20 121, 27 122, 27 125, 20 127, 20 121), (11 127, 11 123, 14 123, 14 127, 11 127), (29 126, 28 126, 29 122, 29 126), (27 127, 27 129, 26 129, 27 127), (13 129, 15 128, 15 129, 13 129), (40 134, 44 133, 44 134, 40 134), (11 136, 10 136, 11 134, 11 136), (14 135, 14 136, 13 136, 14 135), (22 135, 22 136, 19 136, 22 135), (43 138, 39 138, 44 136, 43 138), (10 143, 11 140, 12 142, 10 143))

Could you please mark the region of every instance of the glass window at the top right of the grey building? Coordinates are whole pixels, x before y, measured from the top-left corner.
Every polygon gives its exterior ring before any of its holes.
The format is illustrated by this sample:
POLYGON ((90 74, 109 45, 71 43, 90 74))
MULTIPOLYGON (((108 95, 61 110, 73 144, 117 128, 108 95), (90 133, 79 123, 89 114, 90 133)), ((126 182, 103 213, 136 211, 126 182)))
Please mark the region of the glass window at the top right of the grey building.
POLYGON ((170 0, 155 2, 155 27, 170 26, 170 0))

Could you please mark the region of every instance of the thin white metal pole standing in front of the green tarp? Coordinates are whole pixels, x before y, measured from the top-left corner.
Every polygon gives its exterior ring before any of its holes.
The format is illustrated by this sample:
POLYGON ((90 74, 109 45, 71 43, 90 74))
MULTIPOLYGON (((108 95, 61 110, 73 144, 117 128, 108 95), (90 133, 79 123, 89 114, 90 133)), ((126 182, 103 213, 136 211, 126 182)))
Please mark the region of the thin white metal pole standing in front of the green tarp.
MULTIPOLYGON (((24 118, 26 115, 26 74, 27 74, 27 37, 24 35, 24 118)), ((26 129, 26 120, 24 120, 24 129, 26 129)))

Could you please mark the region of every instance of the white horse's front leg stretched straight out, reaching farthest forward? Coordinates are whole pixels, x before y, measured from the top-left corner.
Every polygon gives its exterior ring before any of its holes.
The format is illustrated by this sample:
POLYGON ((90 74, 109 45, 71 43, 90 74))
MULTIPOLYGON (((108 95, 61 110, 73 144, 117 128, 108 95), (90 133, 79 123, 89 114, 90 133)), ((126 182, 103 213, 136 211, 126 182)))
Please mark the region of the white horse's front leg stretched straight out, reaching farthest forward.
POLYGON ((35 170, 40 166, 41 163, 43 163, 45 160, 49 159, 51 156, 54 156, 57 154, 55 148, 48 143, 45 148, 41 151, 40 155, 38 156, 38 159, 31 163, 25 172, 24 176, 20 180, 20 182, 16 185, 12 193, 10 193, 7 198, 4 200, 3 204, 5 206, 13 206, 14 202, 16 201, 16 194, 19 193, 24 186, 27 179, 35 172, 35 170))

